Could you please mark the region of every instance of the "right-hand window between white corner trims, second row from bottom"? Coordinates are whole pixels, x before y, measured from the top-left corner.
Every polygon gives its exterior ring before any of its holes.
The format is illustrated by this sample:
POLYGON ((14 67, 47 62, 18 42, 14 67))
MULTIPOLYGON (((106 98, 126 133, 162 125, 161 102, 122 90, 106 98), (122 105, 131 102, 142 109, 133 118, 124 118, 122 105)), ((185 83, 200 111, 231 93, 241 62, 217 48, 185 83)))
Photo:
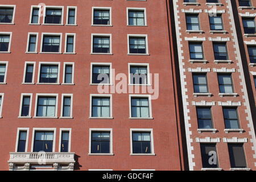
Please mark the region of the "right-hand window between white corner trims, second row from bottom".
POLYGON ((226 129, 240 129, 238 122, 237 108, 224 107, 223 115, 226 129))

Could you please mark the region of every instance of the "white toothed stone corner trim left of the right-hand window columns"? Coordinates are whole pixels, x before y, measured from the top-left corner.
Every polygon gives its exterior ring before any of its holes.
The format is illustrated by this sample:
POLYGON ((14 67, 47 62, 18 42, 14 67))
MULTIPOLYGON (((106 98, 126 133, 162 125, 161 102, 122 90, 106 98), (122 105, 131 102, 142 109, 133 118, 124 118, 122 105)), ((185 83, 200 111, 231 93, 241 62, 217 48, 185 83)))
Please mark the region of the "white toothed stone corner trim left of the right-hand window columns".
POLYGON ((191 124, 189 123, 190 117, 189 115, 189 109, 188 109, 188 95, 187 92, 187 82, 185 82, 185 69, 183 68, 183 56, 182 56, 182 45, 181 45, 181 32, 180 32, 180 22, 179 22, 179 6, 177 5, 177 2, 179 0, 173 0, 174 3, 174 17, 175 17, 175 28, 176 28, 176 35, 177 35, 177 50, 179 55, 179 69, 180 69, 180 82, 181 82, 181 95, 182 95, 182 102, 183 102, 183 109, 184 109, 184 123, 185 123, 185 133, 186 133, 186 140, 187 140, 187 150, 188 150, 188 164, 189 164, 189 170, 193 171, 194 166, 196 166, 195 162, 193 162, 193 158, 195 156, 192 154, 193 147, 192 142, 193 139, 191 138, 192 131, 190 131, 191 124))

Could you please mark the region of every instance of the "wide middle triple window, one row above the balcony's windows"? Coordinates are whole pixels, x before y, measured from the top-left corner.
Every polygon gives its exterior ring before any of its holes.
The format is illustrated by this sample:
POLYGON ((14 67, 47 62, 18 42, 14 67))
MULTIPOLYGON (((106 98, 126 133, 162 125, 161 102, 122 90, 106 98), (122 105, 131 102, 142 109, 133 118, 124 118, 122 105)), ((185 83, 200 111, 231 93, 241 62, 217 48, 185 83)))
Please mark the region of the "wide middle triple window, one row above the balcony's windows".
POLYGON ((55 117, 56 108, 56 97, 39 96, 36 117, 55 117))

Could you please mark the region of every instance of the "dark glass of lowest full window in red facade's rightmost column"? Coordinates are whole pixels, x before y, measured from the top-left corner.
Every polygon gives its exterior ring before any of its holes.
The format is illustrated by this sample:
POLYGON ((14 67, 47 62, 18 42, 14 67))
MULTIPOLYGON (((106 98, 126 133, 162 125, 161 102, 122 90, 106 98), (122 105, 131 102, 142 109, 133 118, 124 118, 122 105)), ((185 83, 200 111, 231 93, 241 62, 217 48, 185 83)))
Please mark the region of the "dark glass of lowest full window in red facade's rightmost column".
POLYGON ((150 132, 133 132, 133 154, 151 154, 150 132))

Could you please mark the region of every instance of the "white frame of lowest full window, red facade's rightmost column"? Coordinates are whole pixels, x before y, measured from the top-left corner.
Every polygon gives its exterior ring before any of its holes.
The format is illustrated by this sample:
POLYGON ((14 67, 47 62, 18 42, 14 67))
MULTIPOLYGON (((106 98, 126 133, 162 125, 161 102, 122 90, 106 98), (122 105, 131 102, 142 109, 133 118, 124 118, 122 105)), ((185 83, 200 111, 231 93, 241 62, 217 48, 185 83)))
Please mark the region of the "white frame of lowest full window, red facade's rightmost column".
POLYGON ((153 129, 130 129, 130 155, 155 155, 153 129), (133 132, 150 132, 151 154, 133 154, 133 132))

